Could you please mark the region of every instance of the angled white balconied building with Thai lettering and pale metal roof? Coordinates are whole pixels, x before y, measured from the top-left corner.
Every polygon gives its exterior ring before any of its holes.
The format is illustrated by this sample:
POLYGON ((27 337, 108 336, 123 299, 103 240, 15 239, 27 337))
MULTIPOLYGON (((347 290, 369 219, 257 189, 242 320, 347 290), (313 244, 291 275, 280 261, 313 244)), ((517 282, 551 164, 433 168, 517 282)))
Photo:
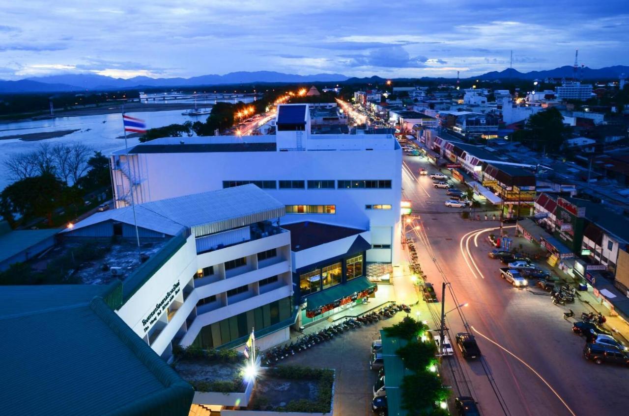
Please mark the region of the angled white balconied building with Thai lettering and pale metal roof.
POLYGON ((62 236, 102 244, 84 283, 122 280, 116 314, 160 356, 174 344, 237 346, 252 328, 264 349, 285 341, 296 317, 284 211, 250 184, 99 212, 62 236))

